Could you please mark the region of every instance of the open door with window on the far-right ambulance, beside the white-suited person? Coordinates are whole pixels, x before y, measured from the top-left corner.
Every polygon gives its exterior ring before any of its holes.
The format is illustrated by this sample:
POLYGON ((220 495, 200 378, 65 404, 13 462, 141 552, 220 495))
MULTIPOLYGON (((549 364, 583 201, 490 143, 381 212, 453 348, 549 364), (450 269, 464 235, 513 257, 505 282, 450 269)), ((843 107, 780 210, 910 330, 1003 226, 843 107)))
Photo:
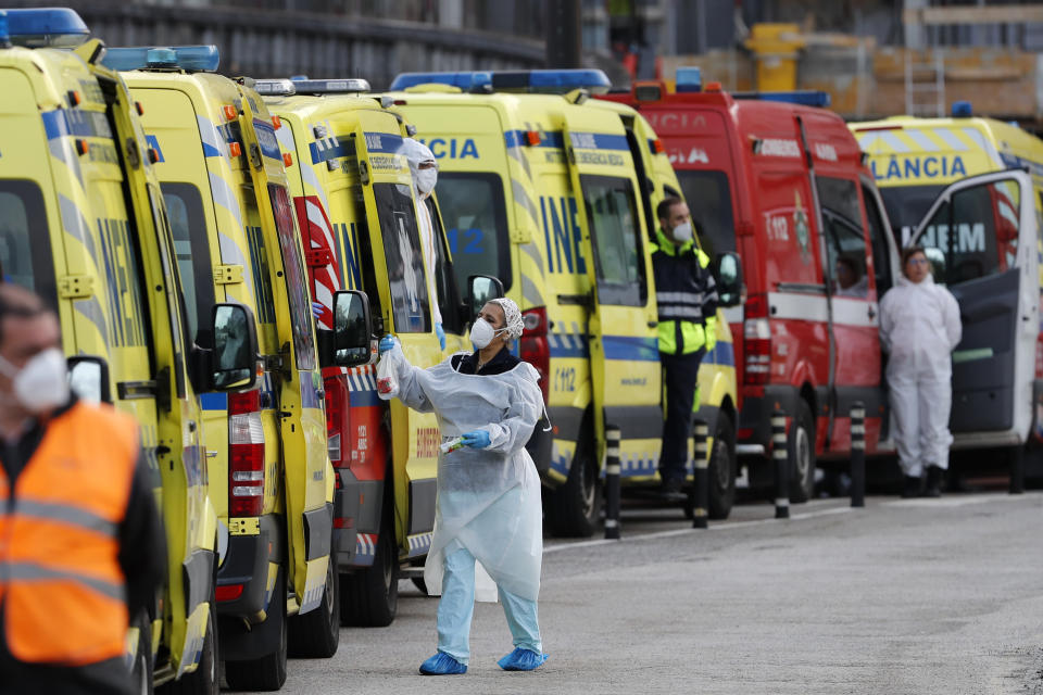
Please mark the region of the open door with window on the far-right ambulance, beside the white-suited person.
POLYGON ((953 433, 1025 442, 1040 326, 1030 176, 997 172, 950 185, 913 241, 927 248, 935 281, 959 302, 964 332, 953 353, 953 433))

